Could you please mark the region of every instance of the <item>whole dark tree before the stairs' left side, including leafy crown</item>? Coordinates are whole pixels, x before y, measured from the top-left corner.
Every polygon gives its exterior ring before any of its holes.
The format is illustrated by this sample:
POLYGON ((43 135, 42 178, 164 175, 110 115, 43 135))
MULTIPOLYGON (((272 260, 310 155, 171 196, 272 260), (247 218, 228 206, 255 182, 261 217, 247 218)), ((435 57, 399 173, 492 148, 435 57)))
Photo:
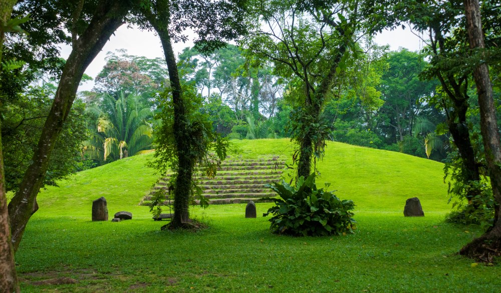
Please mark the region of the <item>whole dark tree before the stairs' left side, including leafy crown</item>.
POLYGON ((177 2, 169 0, 151 1, 140 6, 141 13, 160 37, 162 43, 173 104, 172 132, 177 156, 177 176, 174 186, 174 217, 171 228, 189 227, 189 190, 192 186, 193 169, 198 154, 205 152, 198 149, 202 142, 202 125, 190 121, 189 93, 183 91, 177 69, 172 41, 182 39, 187 27, 196 28, 196 43, 202 44, 199 50, 211 52, 224 45, 224 39, 234 38, 244 31, 242 5, 239 1, 177 2), (195 26, 196 24, 196 26, 195 26))

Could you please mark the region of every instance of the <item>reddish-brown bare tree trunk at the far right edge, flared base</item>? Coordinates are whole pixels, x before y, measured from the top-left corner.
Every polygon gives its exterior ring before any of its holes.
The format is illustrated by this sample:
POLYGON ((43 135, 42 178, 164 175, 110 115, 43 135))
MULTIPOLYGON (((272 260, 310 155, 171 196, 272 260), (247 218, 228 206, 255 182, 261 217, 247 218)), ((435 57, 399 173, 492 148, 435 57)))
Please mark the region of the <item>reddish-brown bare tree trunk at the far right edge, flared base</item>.
MULTIPOLYGON (((482 24, 480 19, 480 6, 478 0, 465 0, 464 10, 468 30, 470 49, 484 49, 482 24)), ((482 58, 483 59, 483 58, 482 58)), ((485 59, 483 59, 485 60, 485 59)), ((490 230, 482 236, 466 244, 460 254, 481 261, 491 262, 493 257, 501 255, 501 143, 497 130, 497 119, 492 98, 489 69, 485 63, 473 70, 478 105, 480 108, 480 130, 483 136, 485 159, 489 170, 492 193, 497 203, 494 212, 494 223, 490 230)))

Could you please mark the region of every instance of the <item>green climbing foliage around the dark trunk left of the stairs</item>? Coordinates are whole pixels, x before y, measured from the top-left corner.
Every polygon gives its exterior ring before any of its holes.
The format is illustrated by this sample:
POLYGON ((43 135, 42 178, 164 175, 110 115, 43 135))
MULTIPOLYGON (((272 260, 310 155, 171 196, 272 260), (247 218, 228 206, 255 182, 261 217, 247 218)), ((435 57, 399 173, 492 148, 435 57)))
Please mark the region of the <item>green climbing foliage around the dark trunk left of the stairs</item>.
MULTIPOLYGON (((197 165, 197 175, 201 175, 203 172, 205 176, 213 177, 220 162, 226 158, 226 152, 230 149, 229 141, 213 132, 208 115, 199 111, 202 97, 196 93, 192 85, 182 83, 181 88, 182 98, 189 101, 186 103, 185 120, 183 121, 187 133, 182 138, 176 138, 174 135, 172 89, 167 88, 160 93, 159 107, 161 111, 157 113, 156 119, 161 120, 162 123, 154 130, 156 134, 154 140, 155 160, 149 163, 150 167, 157 169, 162 175, 173 172, 169 181, 172 190, 177 188, 176 178, 180 168, 180 152, 184 152, 188 163, 197 165), (178 140, 182 140, 182 142, 178 140)), ((183 167, 188 168, 189 166, 183 167)), ((207 207, 208 201, 202 196, 202 190, 197 186, 196 177, 195 175, 195 180, 190 181, 189 190, 184 192, 187 192, 189 202, 194 203, 195 200, 199 200, 202 207, 207 207)), ((151 211, 157 214, 161 213, 161 202, 162 197, 158 195, 158 200, 151 206, 151 211)))

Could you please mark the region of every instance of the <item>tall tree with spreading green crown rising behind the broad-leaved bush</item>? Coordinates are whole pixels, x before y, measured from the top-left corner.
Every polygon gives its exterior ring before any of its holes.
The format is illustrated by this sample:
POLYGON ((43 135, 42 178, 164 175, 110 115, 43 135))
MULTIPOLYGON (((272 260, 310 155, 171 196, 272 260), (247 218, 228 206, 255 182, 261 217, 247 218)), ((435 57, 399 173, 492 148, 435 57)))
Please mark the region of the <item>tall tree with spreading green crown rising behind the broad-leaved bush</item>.
POLYGON ((291 119, 299 144, 298 177, 308 177, 312 160, 323 156, 329 131, 321 114, 354 47, 357 9, 358 2, 350 1, 256 4, 258 28, 246 46, 258 60, 273 62, 276 74, 292 81, 298 98, 291 119))

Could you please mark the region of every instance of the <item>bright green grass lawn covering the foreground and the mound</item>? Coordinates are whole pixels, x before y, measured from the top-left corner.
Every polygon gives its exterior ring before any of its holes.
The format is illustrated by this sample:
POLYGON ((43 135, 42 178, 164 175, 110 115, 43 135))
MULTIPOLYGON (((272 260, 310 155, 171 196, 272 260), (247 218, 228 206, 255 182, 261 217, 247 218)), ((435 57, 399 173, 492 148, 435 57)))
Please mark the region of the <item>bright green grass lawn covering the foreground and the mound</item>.
MULTIPOLYGON (((238 141, 242 157, 282 154, 288 140, 238 141)), ((456 255, 481 233, 443 223, 442 165, 394 152, 329 143, 319 164, 341 199, 357 204, 355 234, 273 235, 268 218, 244 218, 244 204, 192 208, 207 222, 197 233, 160 231, 138 206, 154 183, 136 156, 81 172, 43 190, 40 210, 16 254, 23 292, 498 292, 499 266, 472 266, 456 255), (133 220, 92 222, 92 200, 133 220), (417 196, 422 218, 403 217, 417 196)), ((258 215, 270 203, 257 204, 258 215)))

